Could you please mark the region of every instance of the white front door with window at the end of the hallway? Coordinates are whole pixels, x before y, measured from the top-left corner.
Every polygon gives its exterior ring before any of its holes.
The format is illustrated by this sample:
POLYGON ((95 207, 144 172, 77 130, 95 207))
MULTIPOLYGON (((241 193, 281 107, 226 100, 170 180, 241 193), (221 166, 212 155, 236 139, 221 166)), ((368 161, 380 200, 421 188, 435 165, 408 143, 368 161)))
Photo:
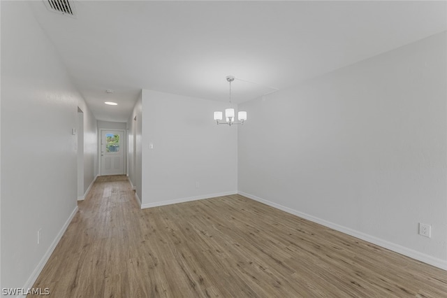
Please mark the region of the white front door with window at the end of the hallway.
POLYGON ((124 132, 101 130, 101 175, 124 174, 124 132))

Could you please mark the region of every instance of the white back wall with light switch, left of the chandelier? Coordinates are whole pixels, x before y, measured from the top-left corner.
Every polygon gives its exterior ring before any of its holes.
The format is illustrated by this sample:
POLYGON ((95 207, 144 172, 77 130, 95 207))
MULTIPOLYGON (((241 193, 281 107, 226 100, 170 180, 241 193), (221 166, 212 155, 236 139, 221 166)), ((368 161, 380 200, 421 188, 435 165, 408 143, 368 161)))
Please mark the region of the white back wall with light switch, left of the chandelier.
POLYGON ((143 208, 237 192, 237 127, 213 120, 225 107, 142 90, 143 208))

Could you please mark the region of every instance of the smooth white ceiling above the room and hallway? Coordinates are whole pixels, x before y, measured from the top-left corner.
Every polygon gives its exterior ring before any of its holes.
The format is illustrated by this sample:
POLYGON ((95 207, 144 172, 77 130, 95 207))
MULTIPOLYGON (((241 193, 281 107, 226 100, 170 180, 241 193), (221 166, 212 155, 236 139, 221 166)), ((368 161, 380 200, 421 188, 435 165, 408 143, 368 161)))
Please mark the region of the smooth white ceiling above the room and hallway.
POLYGON ((141 89, 242 102, 447 29, 446 1, 31 1, 98 120, 126 122, 141 89), (108 94, 105 90, 115 90, 108 94), (105 106, 115 101, 118 106, 105 106))

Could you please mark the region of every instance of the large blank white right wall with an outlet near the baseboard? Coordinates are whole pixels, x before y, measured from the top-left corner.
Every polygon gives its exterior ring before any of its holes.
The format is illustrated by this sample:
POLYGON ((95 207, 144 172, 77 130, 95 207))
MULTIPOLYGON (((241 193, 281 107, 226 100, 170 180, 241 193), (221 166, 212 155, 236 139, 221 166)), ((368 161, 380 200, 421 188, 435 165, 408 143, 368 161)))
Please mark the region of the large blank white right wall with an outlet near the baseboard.
POLYGON ((241 104, 240 192, 447 269, 446 55, 444 32, 241 104))

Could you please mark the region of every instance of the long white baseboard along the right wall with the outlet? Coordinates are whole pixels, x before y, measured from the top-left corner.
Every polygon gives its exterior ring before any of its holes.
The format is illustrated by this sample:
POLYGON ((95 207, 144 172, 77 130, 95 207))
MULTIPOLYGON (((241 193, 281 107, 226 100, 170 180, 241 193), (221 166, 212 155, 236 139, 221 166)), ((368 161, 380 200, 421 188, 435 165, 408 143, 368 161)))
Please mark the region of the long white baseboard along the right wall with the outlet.
POLYGON ((266 199, 262 199, 260 197, 256 197, 253 194, 247 194, 247 192, 237 192, 238 194, 241 194, 244 197, 247 197, 249 199, 254 199, 255 201, 260 201, 263 204, 266 204, 268 206, 272 206, 274 208, 277 208, 279 210, 285 211, 287 213, 291 213, 293 215, 297 215, 300 218, 305 218, 306 220, 310 220, 312 222, 316 222, 320 225, 323 225, 325 227, 330 227, 331 229, 335 229, 339 232, 342 232, 344 234, 348 234, 350 236, 354 236, 358 239, 365 240, 369 243, 376 244, 377 246, 381 246, 383 248, 386 248, 388 250, 393 250, 395 253, 400 253, 401 255, 406 255, 407 257, 411 257, 412 259, 418 260, 420 262, 424 262, 427 264, 430 264, 434 267, 438 267, 440 269, 447 270, 447 261, 438 259, 437 257, 432 257, 430 255, 425 255, 425 253, 420 253, 416 250, 412 250, 410 248, 406 248, 404 246, 400 246, 398 244, 395 244, 390 241, 386 241, 383 239, 376 238, 374 236, 371 236, 369 234, 365 234, 362 232, 358 232, 355 229, 350 229, 349 227, 344 227, 342 225, 337 225, 333 222, 329 222, 328 220, 323 220, 321 218, 316 218, 315 216, 309 215, 307 213, 302 213, 300 211, 296 211, 292 208, 288 208, 286 206, 279 205, 277 203, 274 203, 272 201, 268 201, 266 199))

